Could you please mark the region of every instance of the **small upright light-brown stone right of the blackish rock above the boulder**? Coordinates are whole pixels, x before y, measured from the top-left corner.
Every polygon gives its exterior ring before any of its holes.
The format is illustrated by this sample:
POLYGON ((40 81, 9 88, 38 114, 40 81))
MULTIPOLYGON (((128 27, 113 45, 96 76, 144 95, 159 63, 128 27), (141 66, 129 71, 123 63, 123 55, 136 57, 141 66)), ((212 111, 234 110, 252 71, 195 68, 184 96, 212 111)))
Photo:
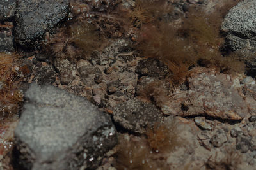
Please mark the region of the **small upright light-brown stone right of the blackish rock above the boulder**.
POLYGON ((56 67, 58 73, 60 73, 60 83, 63 85, 68 85, 74 80, 74 76, 72 74, 72 64, 67 59, 56 59, 54 62, 54 66, 56 67))

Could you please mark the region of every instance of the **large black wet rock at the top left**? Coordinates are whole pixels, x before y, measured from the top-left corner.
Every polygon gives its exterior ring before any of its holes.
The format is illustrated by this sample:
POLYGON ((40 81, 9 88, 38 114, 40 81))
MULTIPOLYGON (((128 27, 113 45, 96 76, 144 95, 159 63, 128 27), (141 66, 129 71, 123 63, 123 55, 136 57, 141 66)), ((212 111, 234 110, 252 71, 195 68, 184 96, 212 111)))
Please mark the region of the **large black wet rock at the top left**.
POLYGON ((17 1, 15 41, 26 48, 35 47, 46 31, 67 17, 68 11, 68 0, 17 1))

